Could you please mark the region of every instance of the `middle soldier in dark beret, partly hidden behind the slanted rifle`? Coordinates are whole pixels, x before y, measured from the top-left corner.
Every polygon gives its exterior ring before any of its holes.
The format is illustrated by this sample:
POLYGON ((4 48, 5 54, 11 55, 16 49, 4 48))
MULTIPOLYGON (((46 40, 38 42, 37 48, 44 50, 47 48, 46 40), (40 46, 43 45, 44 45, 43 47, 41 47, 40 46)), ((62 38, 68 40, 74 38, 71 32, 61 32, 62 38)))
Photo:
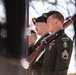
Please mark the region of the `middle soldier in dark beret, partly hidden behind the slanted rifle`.
MULTIPOLYGON (((49 33, 47 31, 47 24, 44 22, 42 16, 38 17, 37 19, 36 18, 33 18, 33 23, 34 25, 36 26, 36 31, 38 33, 38 35, 41 36, 41 38, 37 41, 37 43, 33 46, 33 49, 32 49, 32 53, 34 51, 36 51, 37 47, 41 44, 41 40, 48 36, 49 33)), ((43 57, 44 55, 42 55, 42 57, 36 61, 32 68, 30 69, 30 75, 40 75, 41 74, 41 66, 43 64, 43 57)), ((27 66, 23 65, 22 66, 26 69, 27 66)))

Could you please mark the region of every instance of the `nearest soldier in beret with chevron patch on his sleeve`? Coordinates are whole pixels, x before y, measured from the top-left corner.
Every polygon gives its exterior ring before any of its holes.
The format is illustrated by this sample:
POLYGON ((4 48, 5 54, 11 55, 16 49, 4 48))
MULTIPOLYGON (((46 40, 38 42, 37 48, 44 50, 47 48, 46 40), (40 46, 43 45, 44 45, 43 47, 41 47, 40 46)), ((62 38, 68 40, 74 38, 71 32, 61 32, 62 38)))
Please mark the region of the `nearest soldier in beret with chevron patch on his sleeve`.
POLYGON ((48 31, 58 37, 45 47, 41 75, 67 75, 73 42, 64 32, 64 17, 58 11, 43 13, 42 16, 48 24, 48 31))

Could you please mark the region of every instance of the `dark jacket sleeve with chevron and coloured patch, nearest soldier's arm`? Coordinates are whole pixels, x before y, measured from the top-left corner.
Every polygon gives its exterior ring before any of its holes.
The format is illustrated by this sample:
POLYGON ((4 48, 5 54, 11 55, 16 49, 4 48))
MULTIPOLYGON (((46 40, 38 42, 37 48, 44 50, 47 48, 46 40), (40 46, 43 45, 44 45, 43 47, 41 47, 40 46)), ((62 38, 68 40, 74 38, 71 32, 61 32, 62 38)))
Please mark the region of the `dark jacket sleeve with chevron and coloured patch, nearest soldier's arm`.
POLYGON ((61 37, 56 42, 57 60, 53 75, 66 75, 71 59, 73 42, 68 37, 61 37))

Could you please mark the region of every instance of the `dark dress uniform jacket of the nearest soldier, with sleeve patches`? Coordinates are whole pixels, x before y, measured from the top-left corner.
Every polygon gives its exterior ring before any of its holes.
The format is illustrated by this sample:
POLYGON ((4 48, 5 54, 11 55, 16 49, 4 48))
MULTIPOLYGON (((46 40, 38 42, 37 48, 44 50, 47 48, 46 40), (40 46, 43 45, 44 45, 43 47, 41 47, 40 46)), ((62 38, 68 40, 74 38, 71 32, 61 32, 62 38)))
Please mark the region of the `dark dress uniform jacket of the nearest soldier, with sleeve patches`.
POLYGON ((64 30, 59 32, 62 34, 45 47, 42 75, 67 75, 73 42, 64 30))

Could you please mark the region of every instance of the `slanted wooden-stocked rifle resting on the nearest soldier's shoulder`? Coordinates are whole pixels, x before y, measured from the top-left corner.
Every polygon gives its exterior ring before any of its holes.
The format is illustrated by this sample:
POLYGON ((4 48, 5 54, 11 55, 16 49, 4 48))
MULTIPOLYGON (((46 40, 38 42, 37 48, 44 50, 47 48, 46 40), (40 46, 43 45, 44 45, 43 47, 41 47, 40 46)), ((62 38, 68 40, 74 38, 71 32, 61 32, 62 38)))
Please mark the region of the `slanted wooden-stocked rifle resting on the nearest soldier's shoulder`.
MULTIPOLYGON (((73 23, 73 21, 75 21, 75 17, 76 14, 72 17, 69 18, 64 24, 63 24, 63 28, 66 29, 70 24, 73 23)), ((29 63, 29 68, 32 67, 33 63, 35 62, 36 58, 38 57, 38 55, 40 54, 40 52, 43 50, 43 48, 45 47, 46 44, 48 44, 49 42, 51 42, 53 39, 55 39, 57 37, 57 35, 55 34, 54 36, 50 35, 49 37, 47 37, 44 41, 42 41, 41 45, 39 46, 38 50, 36 50, 35 52, 33 52, 31 55, 29 55, 26 59, 29 63)))

